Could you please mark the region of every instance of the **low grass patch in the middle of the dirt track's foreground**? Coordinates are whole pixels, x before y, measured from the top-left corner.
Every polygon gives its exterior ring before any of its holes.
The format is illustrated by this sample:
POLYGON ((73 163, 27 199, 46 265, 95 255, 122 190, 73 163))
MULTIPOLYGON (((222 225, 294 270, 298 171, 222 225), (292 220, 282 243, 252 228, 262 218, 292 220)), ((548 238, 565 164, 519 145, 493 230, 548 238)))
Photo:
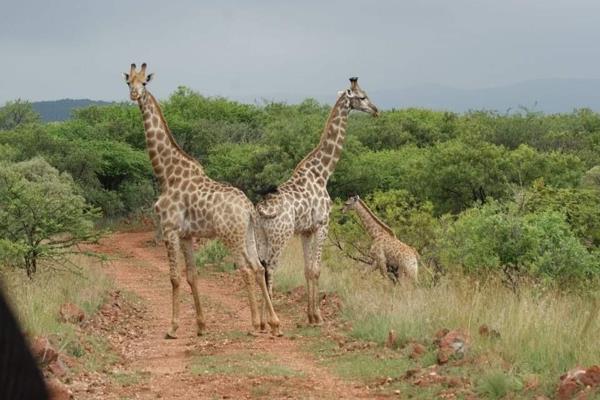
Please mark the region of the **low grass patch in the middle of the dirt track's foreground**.
POLYGON ((235 353, 197 357, 190 370, 198 375, 301 376, 286 365, 273 362, 268 354, 235 353))

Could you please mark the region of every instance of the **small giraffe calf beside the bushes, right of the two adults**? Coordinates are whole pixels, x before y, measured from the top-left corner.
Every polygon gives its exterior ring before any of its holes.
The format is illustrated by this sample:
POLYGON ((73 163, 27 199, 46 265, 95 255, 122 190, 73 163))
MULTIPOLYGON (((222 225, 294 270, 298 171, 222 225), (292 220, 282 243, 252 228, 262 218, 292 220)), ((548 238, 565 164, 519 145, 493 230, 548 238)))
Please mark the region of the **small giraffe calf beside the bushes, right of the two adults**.
POLYGON ((419 253, 396 238, 394 231, 384 224, 358 196, 351 196, 345 203, 343 212, 354 209, 367 233, 373 239, 369 256, 373 259, 371 270, 377 268, 384 277, 390 273, 397 282, 400 274, 408 275, 417 281, 419 253))

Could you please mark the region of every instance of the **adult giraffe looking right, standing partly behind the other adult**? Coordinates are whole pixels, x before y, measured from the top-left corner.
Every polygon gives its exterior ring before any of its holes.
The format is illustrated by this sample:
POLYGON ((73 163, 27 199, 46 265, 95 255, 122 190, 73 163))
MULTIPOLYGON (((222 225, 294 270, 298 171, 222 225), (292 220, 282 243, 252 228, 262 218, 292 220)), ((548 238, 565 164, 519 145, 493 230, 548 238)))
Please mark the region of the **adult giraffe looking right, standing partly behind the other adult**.
MULTIPOLYGON (((259 253, 266 267, 267 287, 273 294, 273 270, 281 253, 294 234, 300 234, 304 250, 304 276, 308 294, 308 321, 323 322, 319 310, 318 281, 321 249, 327 236, 331 199, 327 181, 333 173, 346 138, 350 110, 378 115, 377 107, 358 86, 358 78, 350 78, 350 89, 339 93, 321 140, 294 169, 292 177, 257 204, 260 226, 259 253)), ((261 327, 265 327, 263 307, 261 327)))

